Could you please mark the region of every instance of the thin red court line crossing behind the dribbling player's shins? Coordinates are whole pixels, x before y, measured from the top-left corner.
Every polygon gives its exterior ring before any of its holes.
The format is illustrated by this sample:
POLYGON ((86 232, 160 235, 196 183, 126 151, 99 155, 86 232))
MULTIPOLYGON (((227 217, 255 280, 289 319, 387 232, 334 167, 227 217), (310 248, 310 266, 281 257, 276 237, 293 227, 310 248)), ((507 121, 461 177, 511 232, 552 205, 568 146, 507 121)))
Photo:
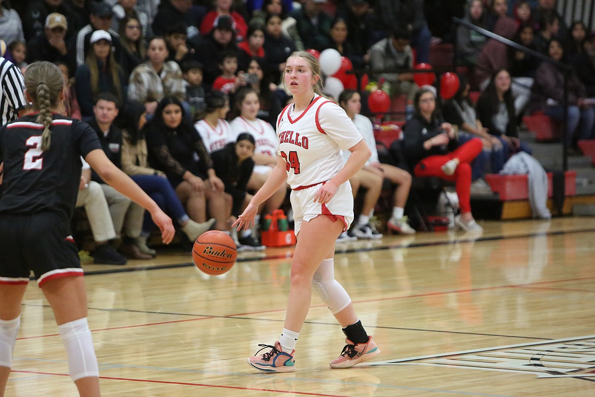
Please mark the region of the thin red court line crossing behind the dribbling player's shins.
MULTIPOLYGON (((361 301, 353 301, 353 304, 361 304, 361 303, 369 303, 369 302, 381 302, 381 301, 391 301, 393 299, 422 298, 424 296, 443 295, 443 294, 446 294, 446 293, 475 292, 475 291, 485 291, 485 290, 490 290, 490 289, 501 289, 501 288, 511 288, 511 287, 515 287, 515 288, 518 288, 518 287, 531 287, 533 285, 542 285, 542 284, 551 284, 551 283, 564 283, 564 282, 593 280, 593 279, 595 279, 595 277, 584 277, 584 278, 581 278, 581 279, 568 279, 568 280, 553 280, 553 281, 544 281, 544 282, 518 284, 518 285, 500 285, 500 286, 493 286, 493 287, 456 289, 456 290, 439 291, 439 292, 427 292, 427 293, 418 293, 418 294, 415 294, 415 295, 390 296, 390 297, 387 297, 387 298, 364 299, 364 300, 361 300, 361 301)), ((326 307, 326 305, 324 305, 324 304, 322 304, 322 305, 313 305, 310 308, 318 308, 318 307, 326 307)), ((111 328, 104 328, 104 329, 96 329, 96 330, 92 330, 92 332, 109 331, 109 330, 116 330, 116 329, 126 329, 126 328, 134 328, 134 327, 146 327, 146 326, 154 326, 154 325, 161 325, 161 324, 183 323, 183 322, 186 322, 186 321, 208 320, 209 318, 239 317, 240 315, 273 313, 273 312, 286 311, 286 310, 287 310, 286 308, 283 308, 283 309, 262 310, 262 311, 254 311, 254 312, 246 312, 246 313, 236 313, 236 314, 227 314, 227 315, 212 315, 212 316, 206 316, 206 317, 200 317, 200 318, 186 318, 184 320, 161 321, 159 323, 136 324, 136 325, 131 325, 131 326, 121 326, 121 327, 111 327, 111 328)), ((46 337, 46 336, 58 336, 58 334, 21 337, 21 338, 17 338, 17 340, 34 339, 34 338, 37 338, 37 337, 46 337)))

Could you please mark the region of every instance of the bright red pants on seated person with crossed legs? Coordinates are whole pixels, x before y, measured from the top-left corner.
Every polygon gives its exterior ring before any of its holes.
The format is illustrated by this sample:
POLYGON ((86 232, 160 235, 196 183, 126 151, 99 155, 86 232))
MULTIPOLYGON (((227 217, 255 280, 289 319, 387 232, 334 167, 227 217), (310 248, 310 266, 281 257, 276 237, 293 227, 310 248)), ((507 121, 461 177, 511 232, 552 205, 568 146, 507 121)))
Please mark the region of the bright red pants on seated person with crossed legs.
POLYGON ((482 146, 481 139, 473 138, 449 154, 426 157, 415 165, 414 174, 415 176, 422 177, 437 176, 442 179, 455 181, 455 189, 456 194, 459 196, 461 212, 471 212, 471 165, 469 165, 469 162, 473 161, 480 154, 482 146), (441 167, 455 157, 460 161, 455 173, 450 176, 444 174, 441 167))

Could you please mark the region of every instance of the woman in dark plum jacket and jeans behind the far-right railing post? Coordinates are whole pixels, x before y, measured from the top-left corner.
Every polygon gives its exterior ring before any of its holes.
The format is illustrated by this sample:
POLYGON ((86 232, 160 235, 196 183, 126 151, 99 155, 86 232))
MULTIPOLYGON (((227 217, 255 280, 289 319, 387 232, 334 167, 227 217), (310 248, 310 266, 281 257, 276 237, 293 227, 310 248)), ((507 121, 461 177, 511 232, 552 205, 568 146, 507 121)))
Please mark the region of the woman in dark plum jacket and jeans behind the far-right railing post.
MULTIPOLYGON (((549 45, 549 55, 553 60, 566 62, 562 42, 552 39, 549 45)), ((568 119, 566 121, 566 143, 570 147, 575 132, 578 129, 578 139, 593 138, 593 124, 595 124, 595 109, 593 105, 584 102, 587 92, 585 86, 572 72, 568 76, 568 119)), ((535 74, 533 95, 531 95, 530 110, 544 111, 554 120, 563 120, 564 75, 555 65, 541 62, 535 74)), ((571 152, 572 153, 572 152, 571 152)))

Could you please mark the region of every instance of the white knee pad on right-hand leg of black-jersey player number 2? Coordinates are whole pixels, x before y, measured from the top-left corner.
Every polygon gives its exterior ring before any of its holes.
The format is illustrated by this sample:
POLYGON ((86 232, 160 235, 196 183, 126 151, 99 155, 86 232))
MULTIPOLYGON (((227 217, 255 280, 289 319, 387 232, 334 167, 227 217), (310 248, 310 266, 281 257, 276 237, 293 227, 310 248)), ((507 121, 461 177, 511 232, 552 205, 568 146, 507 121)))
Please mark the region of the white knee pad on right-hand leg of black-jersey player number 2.
POLYGON ((99 376, 99 366, 93 349, 91 330, 87 318, 58 326, 68 354, 70 377, 76 381, 84 377, 99 376))

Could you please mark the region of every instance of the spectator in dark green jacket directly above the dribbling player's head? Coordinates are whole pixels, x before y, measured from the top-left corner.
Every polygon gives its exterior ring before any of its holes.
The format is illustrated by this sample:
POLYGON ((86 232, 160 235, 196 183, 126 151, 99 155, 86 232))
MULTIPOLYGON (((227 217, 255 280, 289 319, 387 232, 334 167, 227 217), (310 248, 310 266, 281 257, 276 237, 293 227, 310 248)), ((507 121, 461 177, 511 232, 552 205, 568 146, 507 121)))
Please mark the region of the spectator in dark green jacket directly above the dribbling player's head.
POLYGON ((297 33, 305 49, 323 51, 331 45, 332 18, 324 11, 326 2, 327 0, 304 0, 302 8, 291 14, 296 20, 297 33))

